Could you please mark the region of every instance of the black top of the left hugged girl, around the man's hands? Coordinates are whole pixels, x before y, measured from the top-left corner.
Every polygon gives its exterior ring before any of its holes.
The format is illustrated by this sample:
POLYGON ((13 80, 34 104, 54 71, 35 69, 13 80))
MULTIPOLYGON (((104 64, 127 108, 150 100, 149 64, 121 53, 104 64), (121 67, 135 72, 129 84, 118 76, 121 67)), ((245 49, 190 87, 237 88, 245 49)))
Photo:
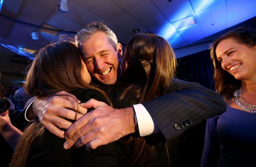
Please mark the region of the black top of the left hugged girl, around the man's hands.
MULTIPOLYGON (((72 92, 81 102, 91 98, 108 103, 96 90, 84 89, 72 92)), ((63 148, 65 139, 45 130, 28 155, 28 166, 117 166, 115 143, 87 151, 84 147, 69 150, 63 148)))

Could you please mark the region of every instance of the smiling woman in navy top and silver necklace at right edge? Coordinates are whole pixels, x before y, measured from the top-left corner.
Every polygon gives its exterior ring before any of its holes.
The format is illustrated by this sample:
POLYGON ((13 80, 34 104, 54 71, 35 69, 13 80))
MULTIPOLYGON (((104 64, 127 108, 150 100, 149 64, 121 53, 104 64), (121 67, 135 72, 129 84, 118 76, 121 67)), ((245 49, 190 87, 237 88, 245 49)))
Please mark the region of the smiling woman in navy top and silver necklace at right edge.
POLYGON ((255 166, 256 30, 221 36, 211 46, 211 59, 227 110, 207 120, 201 166, 255 166))

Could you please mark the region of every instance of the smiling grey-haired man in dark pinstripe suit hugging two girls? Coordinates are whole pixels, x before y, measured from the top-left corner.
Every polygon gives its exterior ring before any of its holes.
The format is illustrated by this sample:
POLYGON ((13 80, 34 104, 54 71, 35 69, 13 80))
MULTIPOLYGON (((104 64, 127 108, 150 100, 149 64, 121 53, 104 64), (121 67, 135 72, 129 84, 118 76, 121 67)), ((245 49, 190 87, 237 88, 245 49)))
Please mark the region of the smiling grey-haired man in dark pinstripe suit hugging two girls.
MULTIPOLYGON (((101 22, 93 22, 80 30, 75 39, 95 80, 105 85, 115 84, 121 73, 122 47, 114 32, 101 22)), ((87 109, 77 108, 74 103, 76 101, 67 96, 36 99, 33 103, 34 113, 50 132, 64 137, 63 129, 69 128, 65 136, 68 139, 66 149, 80 137, 77 146, 96 149, 134 132, 140 136, 162 133, 169 141, 226 109, 216 92, 182 80, 170 85, 168 94, 127 108, 115 109, 92 99, 84 105, 95 109, 86 114, 87 109), (77 112, 81 113, 78 116, 81 119, 72 125, 69 120, 75 120, 77 112)))

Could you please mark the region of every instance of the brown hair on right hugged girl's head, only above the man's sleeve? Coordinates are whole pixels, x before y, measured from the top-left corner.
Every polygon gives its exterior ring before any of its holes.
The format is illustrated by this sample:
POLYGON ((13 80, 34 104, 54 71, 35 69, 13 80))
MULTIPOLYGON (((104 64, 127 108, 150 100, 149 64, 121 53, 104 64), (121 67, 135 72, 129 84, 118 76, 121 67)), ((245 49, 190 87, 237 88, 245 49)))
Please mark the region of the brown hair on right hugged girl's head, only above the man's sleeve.
POLYGON ((121 99, 144 102, 167 93, 177 62, 165 39, 154 34, 136 35, 126 45, 122 66, 125 61, 127 69, 121 81, 129 87, 121 99))

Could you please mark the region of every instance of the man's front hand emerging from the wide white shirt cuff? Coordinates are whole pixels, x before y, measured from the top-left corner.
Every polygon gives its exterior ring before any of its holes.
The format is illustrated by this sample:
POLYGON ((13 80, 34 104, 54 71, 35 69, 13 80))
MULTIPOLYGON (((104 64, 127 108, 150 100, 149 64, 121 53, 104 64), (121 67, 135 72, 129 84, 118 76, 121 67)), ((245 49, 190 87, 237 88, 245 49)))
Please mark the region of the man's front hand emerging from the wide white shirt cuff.
POLYGON ((95 99, 81 106, 95 109, 69 127, 65 133, 65 149, 74 144, 76 147, 86 145, 87 150, 96 149, 135 132, 133 107, 115 109, 95 99))

